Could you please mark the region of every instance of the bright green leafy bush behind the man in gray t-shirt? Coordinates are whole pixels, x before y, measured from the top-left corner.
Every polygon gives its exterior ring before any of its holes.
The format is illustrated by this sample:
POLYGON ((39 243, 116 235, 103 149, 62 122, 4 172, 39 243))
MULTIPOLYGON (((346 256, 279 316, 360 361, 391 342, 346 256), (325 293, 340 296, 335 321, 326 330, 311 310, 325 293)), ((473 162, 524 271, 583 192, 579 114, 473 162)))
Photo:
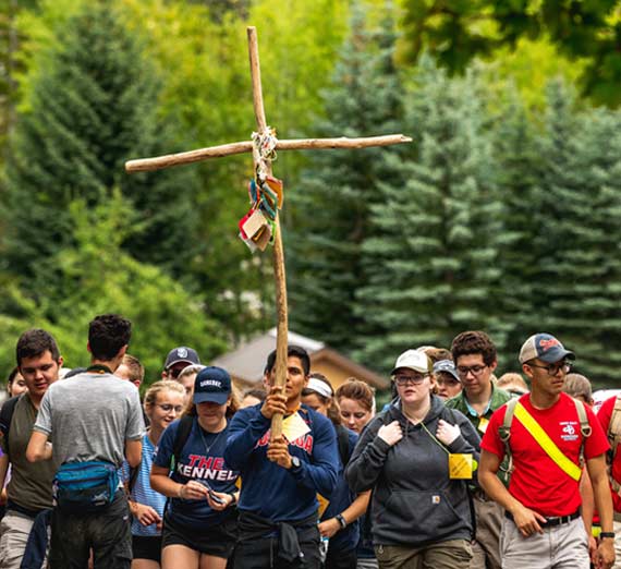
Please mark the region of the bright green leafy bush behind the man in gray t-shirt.
POLYGON ((223 351, 224 331, 205 317, 200 298, 122 251, 135 215, 119 191, 94 208, 85 199, 71 204, 75 244, 50 259, 59 278, 48 282, 41 275, 36 300, 13 287, 11 299, 3 300, 0 365, 10 368, 17 336, 35 326, 57 338, 69 367, 86 365, 88 323, 105 313, 132 320, 130 351, 145 364, 147 383, 157 379, 174 346, 195 346, 206 361, 223 351))

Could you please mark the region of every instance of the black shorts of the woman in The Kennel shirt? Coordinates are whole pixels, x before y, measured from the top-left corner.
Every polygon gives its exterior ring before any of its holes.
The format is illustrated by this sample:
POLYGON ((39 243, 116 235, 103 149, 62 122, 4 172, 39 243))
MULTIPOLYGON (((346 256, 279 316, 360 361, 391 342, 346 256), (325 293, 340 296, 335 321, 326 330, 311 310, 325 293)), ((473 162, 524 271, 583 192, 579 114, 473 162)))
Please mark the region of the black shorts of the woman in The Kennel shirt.
POLYGON ((187 528, 166 516, 161 534, 161 548, 169 545, 184 545, 195 552, 228 559, 238 538, 238 517, 230 516, 216 525, 187 528))

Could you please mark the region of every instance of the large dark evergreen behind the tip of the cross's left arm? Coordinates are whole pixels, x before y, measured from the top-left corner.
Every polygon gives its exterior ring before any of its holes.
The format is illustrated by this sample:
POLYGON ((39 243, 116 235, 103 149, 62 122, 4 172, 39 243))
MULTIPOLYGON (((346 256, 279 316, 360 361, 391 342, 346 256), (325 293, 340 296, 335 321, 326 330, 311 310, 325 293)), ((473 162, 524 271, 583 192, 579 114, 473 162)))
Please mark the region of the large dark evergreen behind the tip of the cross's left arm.
POLYGON ((27 282, 49 269, 49 259, 75 241, 72 201, 93 207, 118 186, 141 213, 125 246, 138 259, 181 273, 195 226, 191 171, 130 177, 123 168, 129 158, 166 147, 159 85, 141 41, 113 5, 85 2, 38 57, 1 213, 11 270, 27 282))

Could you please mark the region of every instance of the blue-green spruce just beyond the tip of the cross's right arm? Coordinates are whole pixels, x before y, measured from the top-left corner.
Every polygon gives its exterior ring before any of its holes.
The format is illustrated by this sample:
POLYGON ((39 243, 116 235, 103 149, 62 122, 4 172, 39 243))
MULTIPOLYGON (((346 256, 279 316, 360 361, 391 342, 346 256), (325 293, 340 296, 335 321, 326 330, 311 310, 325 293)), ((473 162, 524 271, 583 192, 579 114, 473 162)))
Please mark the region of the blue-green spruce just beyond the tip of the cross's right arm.
POLYGON ((485 99, 475 76, 451 81, 429 60, 418 84, 409 97, 415 153, 401 165, 406 183, 379 185, 374 237, 363 245, 369 279, 358 298, 377 331, 360 354, 383 371, 405 349, 498 329, 501 207, 485 99))

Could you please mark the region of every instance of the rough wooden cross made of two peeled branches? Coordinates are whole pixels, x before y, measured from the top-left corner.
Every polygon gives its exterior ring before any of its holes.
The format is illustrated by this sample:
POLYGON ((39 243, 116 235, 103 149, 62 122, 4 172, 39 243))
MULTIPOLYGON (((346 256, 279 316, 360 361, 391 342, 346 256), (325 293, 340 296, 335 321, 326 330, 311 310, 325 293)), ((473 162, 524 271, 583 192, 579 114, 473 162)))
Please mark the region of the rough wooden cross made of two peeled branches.
MULTIPOLYGON (((260 68, 258 58, 257 33, 254 26, 247 28, 248 55, 251 60, 251 76, 253 82, 253 105, 257 131, 260 134, 267 131, 267 121, 263 105, 263 89, 260 82, 260 68)), ((299 138, 291 141, 278 141, 277 150, 301 150, 322 148, 366 148, 369 146, 389 146, 412 142, 412 138, 402 134, 386 136, 372 136, 365 138, 299 138)), ((142 172, 160 170, 172 166, 196 162, 208 158, 220 158, 233 154, 249 153, 253 150, 253 142, 236 142, 200 148, 186 153, 170 154, 157 158, 130 160, 125 164, 127 172, 142 172)), ((271 164, 265 162, 267 174, 271 175, 271 164)), ((255 169, 257 164, 255 162, 255 169)), ((287 349, 288 349, 288 312, 287 312, 287 281, 284 276, 284 253, 282 237, 280 233, 280 216, 276 216, 275 243, 273 243, 273 275, 276 279, 276 306, 278 313, 278 327, 276 339, 276 379, 275 385, 284 387, 287 383, 287 349)), ((275 415, 271 421, 271 436, 278 437, 282 433, 282 415, 275 415)))

